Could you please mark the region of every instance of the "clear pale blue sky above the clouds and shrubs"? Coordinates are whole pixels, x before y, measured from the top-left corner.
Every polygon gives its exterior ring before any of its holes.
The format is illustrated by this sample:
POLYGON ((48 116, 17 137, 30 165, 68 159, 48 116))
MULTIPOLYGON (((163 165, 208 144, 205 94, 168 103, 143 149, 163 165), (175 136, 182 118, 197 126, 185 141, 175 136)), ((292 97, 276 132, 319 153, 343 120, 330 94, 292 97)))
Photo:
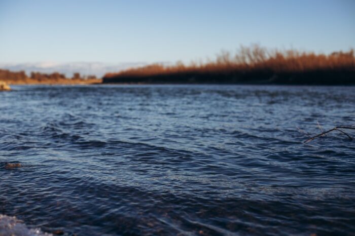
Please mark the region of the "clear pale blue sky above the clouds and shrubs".
POLYGON ((353 0, 0 0, 0 63, 175 62, 355 47, 353 0))

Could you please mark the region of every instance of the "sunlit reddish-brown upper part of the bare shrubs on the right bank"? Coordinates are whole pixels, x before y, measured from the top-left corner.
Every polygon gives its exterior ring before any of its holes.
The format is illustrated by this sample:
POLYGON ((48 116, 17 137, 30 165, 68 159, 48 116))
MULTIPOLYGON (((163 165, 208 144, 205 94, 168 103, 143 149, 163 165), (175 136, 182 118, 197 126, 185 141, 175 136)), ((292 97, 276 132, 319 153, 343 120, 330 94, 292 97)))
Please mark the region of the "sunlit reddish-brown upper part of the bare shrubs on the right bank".
POLYGON ((222 51, 214 61, 193 62, 189 65, 178 62, 171 66, 151 64, 117 73, 107 73, 104 77, 147 77, 186 73, 302 73, 322 70, 355 71, 354 51, 351 49, 348 52, 340 51, 326 55, 296 50, 267 50, 258 45, 241 46, 235 55, 222 51))

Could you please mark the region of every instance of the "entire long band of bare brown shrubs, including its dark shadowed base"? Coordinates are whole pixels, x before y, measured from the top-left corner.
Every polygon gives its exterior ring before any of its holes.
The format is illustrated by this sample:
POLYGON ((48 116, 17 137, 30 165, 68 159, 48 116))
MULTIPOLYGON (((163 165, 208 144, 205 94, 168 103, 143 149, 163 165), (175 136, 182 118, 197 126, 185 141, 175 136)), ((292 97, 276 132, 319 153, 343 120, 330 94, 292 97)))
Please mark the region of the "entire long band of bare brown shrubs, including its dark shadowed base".
POLYGON ((213 61, 107 73, 102 83, 355 85, 355 57, 353 49, 325 55, 254 45, 240 47, 235 55, 223 51, 213 61))

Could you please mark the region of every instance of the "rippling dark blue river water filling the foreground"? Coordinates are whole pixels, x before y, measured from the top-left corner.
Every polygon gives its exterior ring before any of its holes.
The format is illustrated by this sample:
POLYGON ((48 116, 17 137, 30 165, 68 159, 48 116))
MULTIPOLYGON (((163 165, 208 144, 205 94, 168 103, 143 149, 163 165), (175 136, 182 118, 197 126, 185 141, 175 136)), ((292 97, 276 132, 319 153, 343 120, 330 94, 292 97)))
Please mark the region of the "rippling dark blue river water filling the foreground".
POLYGON ((355 235, 355 141, 303 144, 297 129, 355 125, 354 87, 13 89, 0 93, 0 214, 28 227, 355 235))

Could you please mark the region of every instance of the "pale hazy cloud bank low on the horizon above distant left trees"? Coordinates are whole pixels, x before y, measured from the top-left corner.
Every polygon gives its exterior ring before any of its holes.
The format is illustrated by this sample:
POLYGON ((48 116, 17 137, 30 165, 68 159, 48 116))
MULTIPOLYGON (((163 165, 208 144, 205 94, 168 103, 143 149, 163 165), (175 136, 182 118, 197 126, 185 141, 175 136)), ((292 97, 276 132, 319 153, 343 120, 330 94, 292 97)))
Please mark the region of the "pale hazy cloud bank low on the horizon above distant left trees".
POLYGON ((102 77, 107 72, 119 72, 132 67, 147 65, 145 62, 127 62, 119 64, 108 64, 101 62, 72 62, 72 63, 55 63, 55 62, 38 62, 38 63, 7 63, 0 64, 0 69, 8 69, 11 71, 24 70, 28 75, 33 72, 53 73, 59 72, 67 77, 72 77, 73 73, 79 72, 82 75, 96 75, 102 77))

